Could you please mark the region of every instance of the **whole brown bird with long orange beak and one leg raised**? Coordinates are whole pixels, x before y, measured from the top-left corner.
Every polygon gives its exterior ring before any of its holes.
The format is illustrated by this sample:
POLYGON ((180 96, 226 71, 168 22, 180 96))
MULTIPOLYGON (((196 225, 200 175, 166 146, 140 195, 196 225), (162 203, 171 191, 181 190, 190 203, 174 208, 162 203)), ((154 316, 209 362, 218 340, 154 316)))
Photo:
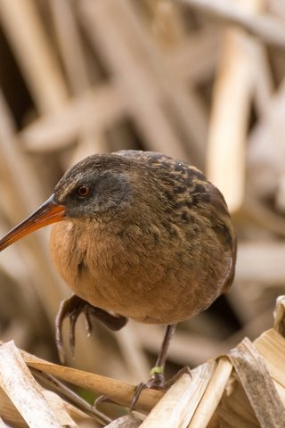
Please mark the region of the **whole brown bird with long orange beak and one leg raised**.
POLYGON ((166 388, 165 365, 175 325, 207 309, 232 285, 236 235, 223 194, 197 168, 158 152, 95 153, 68 169, 52 195, 0 240, 0 251, 53 224, 52 259, 73 294, 61 302, 56 342, 77 317, 116 331, 128 319, 165 325, 151 378, 166 388))

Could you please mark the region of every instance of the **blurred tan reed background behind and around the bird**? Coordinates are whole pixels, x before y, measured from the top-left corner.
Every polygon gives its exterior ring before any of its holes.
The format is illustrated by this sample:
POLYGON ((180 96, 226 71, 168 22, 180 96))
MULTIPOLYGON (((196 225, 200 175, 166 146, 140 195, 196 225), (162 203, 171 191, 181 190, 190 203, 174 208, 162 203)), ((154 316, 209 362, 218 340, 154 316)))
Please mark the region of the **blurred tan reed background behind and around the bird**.
MULTIPOLYGON (((178 326, 167 375, 271 327, 285 289, 284 1, 0 0, 0 24, 1 235, 86 155, 164 152, 208 174, 239 236, 232 291, 178 326)), ((48 235, 1 253, 0 339, 57 362, 70 291, 48 235)), ((86 338, 80 318, 68 362, 138 383, 162 336, 130 322, 86 338)))

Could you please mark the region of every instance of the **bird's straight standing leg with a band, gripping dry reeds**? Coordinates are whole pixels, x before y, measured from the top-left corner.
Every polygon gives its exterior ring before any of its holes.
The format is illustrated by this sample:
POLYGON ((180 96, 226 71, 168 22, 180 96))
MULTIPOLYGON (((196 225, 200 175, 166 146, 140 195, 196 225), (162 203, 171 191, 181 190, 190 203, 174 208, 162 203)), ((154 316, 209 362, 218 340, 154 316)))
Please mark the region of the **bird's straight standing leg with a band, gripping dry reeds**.
POLYGON ((134 408, 135 403, 139 399, 142 390, 148 388, 154 388, 157 390, 165 390, 166 389, 166 381, 164 376, 164 368, 167 361, 167 351, 169 348, 169 343, 173 333, 175 333, 175 324, 167 325, 166 333, 163 338, 163 342, 161 344, 159 350, 159 356, 155 363, 155 366, 151 368, 151 378, 146 383, 139 383, 134 391, 134 396, 131 402, 130 411, 134 408))

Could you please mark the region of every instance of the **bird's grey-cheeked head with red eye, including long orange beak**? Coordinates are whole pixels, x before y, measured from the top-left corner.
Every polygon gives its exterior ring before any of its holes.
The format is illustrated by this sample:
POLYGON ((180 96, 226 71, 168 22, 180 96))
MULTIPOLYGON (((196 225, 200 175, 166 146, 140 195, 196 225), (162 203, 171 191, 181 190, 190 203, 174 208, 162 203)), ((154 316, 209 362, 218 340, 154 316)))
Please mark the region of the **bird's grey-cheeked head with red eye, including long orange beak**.
POLYGON ((93 155, 71 167, 53 194, 0 240, 0 251, 35 230, 57 221, 112 218, 132 198, 129 161, 118 155, 93 155))

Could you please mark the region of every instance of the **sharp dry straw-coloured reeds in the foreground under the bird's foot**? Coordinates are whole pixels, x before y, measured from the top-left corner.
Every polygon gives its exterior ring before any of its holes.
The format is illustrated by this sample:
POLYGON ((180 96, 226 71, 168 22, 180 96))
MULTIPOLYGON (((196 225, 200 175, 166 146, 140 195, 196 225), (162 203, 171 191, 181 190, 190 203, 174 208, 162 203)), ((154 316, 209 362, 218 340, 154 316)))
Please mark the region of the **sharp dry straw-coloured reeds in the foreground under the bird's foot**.
POLYGON ((281 335, 284 314, 285 296, 281 296, 274 328, 261 334, 255 342, 245 338, 225 356, 197 366, 191 374, 182 372, 164 395, 159 391, 142 391, 135 406, 141 417, 125 416, 110 424, 106 416, 88 406, 61 381, 103 394, 122 406, 129 406, 134 386, 57 366, 18 350, 13 342, 4 343, 0 348, 1 416, 16 428, 27 426, 24 421, 31 427, 76 427, 84 422, 87 426, 130 428, 139 425, 143 428, 281 428, 285 416, 285 338, 281 335), (47 383, 49 389, 59 391, 63 399, 41 387, 28 368, 41 383, 47 383))

